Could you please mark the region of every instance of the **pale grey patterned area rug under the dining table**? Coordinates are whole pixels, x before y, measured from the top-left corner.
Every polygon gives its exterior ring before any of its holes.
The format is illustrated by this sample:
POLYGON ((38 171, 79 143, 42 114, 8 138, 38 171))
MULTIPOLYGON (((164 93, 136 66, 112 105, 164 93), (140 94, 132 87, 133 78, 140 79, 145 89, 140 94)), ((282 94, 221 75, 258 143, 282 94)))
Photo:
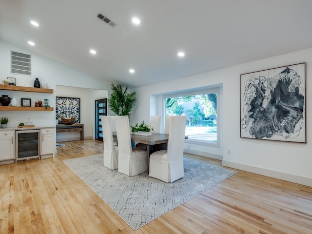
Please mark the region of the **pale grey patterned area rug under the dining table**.
POLYGON ((184 158, 184 177, 173 183, 142 173, 128 177, 103 166, 103 154, 64 163, 98 194, 133 230, 151 222, 236 172, 184 158))

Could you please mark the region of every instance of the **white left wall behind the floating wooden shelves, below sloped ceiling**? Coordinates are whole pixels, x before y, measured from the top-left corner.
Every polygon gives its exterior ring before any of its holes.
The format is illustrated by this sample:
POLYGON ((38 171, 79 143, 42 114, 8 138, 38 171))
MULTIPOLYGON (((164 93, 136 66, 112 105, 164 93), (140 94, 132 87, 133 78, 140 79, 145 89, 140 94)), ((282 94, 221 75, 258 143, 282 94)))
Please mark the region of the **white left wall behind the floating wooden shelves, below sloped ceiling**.
MULTIPOLYGON (((18 124, 20 122, 24 122, 27 117, 33 119, 33 124, 35 126, 55 126, 56 85, 91 88, 106 91, 110 89, 109 82, 94 78, 71 67, 65 66, 62 63, 47 59, 37 54, 33 54, 27 50, 21 49, 10 43, 0 40, 0 83, 2 83, 1 80, 6 77, 14 77, 17 79, 16 83, 18 86, 28 87, 33 87, 35 78, 39 78, 40 82, 47 83, 49 88, 54 90, 53 94, 0 90, 0 95, 9 95, 11 98, 15 96, 15 98, 18 100, 18 105, 20 105, 20 98, 31 98, 32 106, 35 105, 35 101, 43 101, 44 98, 48 98, 50 106, 54 107, 53 112, 1 111, 0 117, 7 116, 10 120, 8 127, 18 126, 18 124), (11 50, 32 55, 32 76, 10 74, 11 50)), ((94 101, 92 105, 94 105, 94 101)), ((94 122, 94 118, 84 119, 84 121, 94 122)), ((88 132, 88 129, 85 129, 85 131, 88 132)), ((90 133, 87 133, 87 136, 88 135, 90 135, 90 133)))

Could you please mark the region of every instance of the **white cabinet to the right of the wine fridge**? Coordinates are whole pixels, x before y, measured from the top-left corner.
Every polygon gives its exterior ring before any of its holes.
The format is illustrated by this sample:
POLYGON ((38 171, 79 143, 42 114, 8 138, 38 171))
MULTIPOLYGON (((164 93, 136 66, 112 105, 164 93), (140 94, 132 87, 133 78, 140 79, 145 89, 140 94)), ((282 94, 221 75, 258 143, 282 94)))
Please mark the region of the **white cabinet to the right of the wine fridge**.
POLYGON ((54 128, 41 129, 41 158, 54 157, 54 128))

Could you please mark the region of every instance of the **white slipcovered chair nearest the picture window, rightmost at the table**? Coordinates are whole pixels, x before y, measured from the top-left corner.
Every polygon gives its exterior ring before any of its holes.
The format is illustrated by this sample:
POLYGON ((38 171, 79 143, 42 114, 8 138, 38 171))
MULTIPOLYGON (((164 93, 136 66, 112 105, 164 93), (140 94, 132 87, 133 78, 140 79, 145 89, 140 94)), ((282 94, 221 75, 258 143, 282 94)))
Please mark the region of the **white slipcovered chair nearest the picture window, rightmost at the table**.
POLYGON ((150 155, 149 176, 171 183, 184 177, 183 149, 186 116, 168 118, 169 140, 167 150, 150 155))

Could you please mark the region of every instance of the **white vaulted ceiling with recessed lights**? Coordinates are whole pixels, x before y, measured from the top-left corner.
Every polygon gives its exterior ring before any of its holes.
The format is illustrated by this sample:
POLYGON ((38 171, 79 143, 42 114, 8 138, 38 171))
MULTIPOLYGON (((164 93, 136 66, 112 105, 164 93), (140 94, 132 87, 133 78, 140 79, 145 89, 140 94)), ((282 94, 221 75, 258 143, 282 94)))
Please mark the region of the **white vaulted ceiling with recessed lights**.
POLYGON ((0 39, 138 87, 312 48, 311 11, 312 0, 0 0, 0 39))

